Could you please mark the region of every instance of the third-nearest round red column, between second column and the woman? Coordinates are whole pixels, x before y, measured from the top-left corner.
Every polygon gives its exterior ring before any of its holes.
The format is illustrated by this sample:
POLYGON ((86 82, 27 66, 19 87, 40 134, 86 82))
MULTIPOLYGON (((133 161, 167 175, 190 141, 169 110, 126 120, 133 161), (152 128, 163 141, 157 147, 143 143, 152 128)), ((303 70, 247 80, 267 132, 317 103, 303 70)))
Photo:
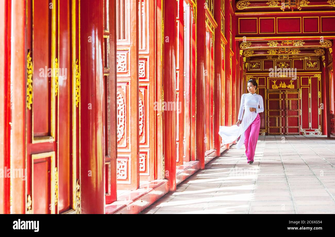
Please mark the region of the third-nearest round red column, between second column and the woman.
POLYGON ((205 169, 205 67, 206 23, 204 0, 197 3, 197 78, 196 78, 196 159, 200 169, 205 169))

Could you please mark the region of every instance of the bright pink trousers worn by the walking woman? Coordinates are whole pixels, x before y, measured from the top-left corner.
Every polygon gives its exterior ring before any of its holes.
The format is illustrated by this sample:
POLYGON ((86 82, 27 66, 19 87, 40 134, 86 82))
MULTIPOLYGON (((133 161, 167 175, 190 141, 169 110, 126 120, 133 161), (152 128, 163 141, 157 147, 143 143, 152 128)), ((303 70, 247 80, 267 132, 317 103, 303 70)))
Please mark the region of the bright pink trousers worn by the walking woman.
POLYGON ((244 132, 244 145, 246 147, 246 155, 249 161, 254 161, 256 144, 259 135, 259 128, 261 126, 261 117, 257 114, 255 120, 250 124, 247 130, 244 132))

